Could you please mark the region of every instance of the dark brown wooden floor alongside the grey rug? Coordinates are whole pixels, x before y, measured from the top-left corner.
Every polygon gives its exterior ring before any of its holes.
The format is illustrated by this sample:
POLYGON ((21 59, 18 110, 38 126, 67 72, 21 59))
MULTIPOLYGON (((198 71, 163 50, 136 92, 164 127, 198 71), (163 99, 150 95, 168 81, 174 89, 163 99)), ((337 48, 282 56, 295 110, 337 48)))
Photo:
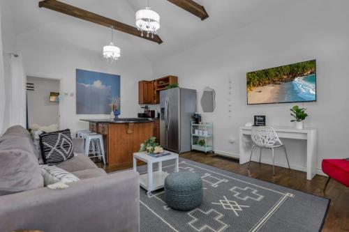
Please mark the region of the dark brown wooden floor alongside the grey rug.
MULTIPOLYGON (((349 232, 349 188, 330 180, 327 185, 325 195, 322 192, 327 181, 327 177, 316 175, 313 180, 306 180, 306 173, 302 171, 288 170, 276 167, 276 175, 272 175, 272 166, 268 164, 259 164, 251 162, 251 175, 248 175, 247 164, 240 165, 239 160, 233 160, 218 155, 205 155, 205 153, 184 153, 180 157, 202 164, 211 165, 219 169, 232 171, 244 176, 265 180, 277 185, 290 187, 295 190, 315 194, 317 196, 325 196, 331 199, 327 217, 322 231, 348 231, 349 232)), ((103 167, 103 165, 99 165, 103 167)), ((105 171, 117 171, 112 167, 104 166, 105 171)))

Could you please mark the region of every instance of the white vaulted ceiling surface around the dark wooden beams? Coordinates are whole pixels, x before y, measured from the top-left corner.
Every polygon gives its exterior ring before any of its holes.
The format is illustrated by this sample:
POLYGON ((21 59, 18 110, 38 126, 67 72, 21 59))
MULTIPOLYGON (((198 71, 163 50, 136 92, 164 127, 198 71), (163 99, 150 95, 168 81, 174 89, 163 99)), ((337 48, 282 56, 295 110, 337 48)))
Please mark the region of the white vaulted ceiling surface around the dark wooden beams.
MULTIPOLYGON (((234 31, 248 24, 280 12, 297 1, 288 0, 196 0, 205 6, 209 18, 200 18, 165 0, 152 0, 150 6, 161 15, 158 35, 161 45, 142 38, 117 32, 115 43, 121 47, 137 47, 149 61, 156 62, 182 52, 226 31, 234 31), (130 45, 126 45, 126 43, 130 45)), ((135 12, 146 6, 146 0, 64 0, 71 4, 110 17, 126 24, 135 24, 135 12)), ((75 19, 68 15, 38 8, 37 0, 11 0, 15 32, 30 33, 34 30, 46 36, 61 37, 86 49, 101 50, 101 45, 110 39, 110 29, 75 19), (84 37, 82 39, 82 33, 84 37)))

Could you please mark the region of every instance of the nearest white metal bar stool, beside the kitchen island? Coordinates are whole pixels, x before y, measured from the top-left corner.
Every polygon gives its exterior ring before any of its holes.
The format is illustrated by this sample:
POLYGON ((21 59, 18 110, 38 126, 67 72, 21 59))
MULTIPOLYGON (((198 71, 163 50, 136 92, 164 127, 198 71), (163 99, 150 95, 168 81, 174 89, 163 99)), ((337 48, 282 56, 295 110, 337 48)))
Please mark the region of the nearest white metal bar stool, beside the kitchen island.
POLYGON ((87 155, 87 157, 94 158, 98 157, 98 159, 103 159, 103 163, 105 164, 105 153, 104 153, 104 146, 103 146, 103 136, 102 134, 96 134, 96 133, 87 133, 84 134, 85 139, 85 148, 84 153, 87 155), (91 146, 91 153, 90 153, 90 146, 91 146), (97 150, 96 150, 97 148, 97 150), (90 154, 92 156, 90 156, 90 154))

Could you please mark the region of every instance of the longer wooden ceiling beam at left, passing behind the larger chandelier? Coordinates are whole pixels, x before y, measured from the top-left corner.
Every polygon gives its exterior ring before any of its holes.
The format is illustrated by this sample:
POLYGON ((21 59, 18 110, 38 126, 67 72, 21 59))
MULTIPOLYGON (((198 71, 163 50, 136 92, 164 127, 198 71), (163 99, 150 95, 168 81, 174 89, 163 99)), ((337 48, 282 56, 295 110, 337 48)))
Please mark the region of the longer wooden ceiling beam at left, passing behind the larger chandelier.
POLYGON ((77 8, 75 6, 70 6, 66 3, 62 3, 61 1, 56 0, 44 0, 39 1, 39 7, 40 8, 47 8, 50 10, 57 11, 59 13, 63 13, 65 15, 70 15, 73 17, 77 17, 81 20, 86 20, 89 22, 94 22, 95 24, 99 24, 102 26, 107 26, 111 28, 114 27, 117 31, 122 31, 124 33, 131 34, 133 36, 138 36, 140 38, 143 38, 145 40, 151 40, 153 42, 157 42, 158 44, 161 44, 163 40, 158 35, 154 35, 154 38, 151 38, 151 36, 141 36, 140 31, 138 31, 137 28, 134 26, 130 26, 128 24, 124 24, 122 22, 118 22, 116 20, 112 20, 108 17, 104 17, 102 15, 97 15, 95 13, 89 12, 87 10, 83 10, 81 8, 77 8))

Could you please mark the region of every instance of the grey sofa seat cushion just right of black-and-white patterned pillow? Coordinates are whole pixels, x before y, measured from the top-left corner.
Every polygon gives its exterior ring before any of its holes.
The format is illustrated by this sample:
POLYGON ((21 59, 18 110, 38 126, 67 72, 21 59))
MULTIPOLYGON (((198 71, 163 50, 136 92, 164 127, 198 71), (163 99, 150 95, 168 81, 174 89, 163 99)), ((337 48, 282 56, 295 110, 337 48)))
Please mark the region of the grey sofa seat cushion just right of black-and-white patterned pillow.
POLYGON ((56 166, 69 172, 81 171, 84 169, 98 169, 96 164, 82 153, 77 153, 73 158, 56 164, 56 166))

